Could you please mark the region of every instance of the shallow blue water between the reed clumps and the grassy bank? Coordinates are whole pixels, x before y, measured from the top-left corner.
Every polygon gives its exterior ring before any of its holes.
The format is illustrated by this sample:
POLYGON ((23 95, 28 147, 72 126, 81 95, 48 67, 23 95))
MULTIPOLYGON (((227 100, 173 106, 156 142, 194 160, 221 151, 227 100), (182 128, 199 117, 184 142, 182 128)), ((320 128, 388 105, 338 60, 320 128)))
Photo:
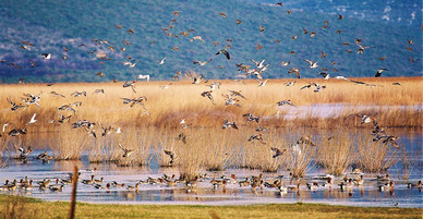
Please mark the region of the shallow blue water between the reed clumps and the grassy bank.
MULTIPOLYGON (((409 181, 399 180, 403 177, 401 172, 401 163, 389 168, 388 173, 395 182, 394 191, 382 192, 378 185, 384 184, 375 180, 376 174, 364 174, 363 186, 353 186, 351 190, 341 191, 338 183, 341 178, 335 178, 334 185, 329 187, 319 186, 315 191, 310 191, 305 186, 305 182, 317 182, 323 184, 323 180, 317 177, 325 175, 324 169, 313 167, 304 178, 300 191, 288 191, 281 194, 278 188, 252 188, 251 186, 240 187, 238 184, 228 183, 225 188, 214 188, 209 183, 213 177, 220 178, 221 175, 230 177, 234 173, 238 180, 244 180, 251 175, 258 175, 259 170, 250 169, 227 169, 219 172, 203 171, 209 175, 203 182, 198 182, 195 190, 188 190, 184 184, 180 183, 173 186, 166 184, 141 184, 137 191, 128 190, 126 187, 111 188, 95 188, 93 185, 78 183, 77 200, 87 203, 106 203, 106 204, 195 204, 195 205, 246 205, 258 203, 324 203, 329 205, 348 205, 348 206, 383 206, 383 207, 418 207, 422 208, 422 193, 419 188, 408 188, 407 183, 415 183, 422 179, 422 132, 397 130, 396 133, 400 136, 399 143, 406 146, 409 155, 413 155, 415 168, 410 174, 409 181)), ((44 151, 44 150, 43 150, 44 151)), ((41 150, 36 150, 33 155, 38 155, 41 150)), ((36 182, 44 179, 50 179, 52 184, 56 179, 67 179, 74 166, 78 166, 82 170, 80 179, 88 180, 92 174, 95 179, 104 178, 105 186, 107 183, 118 181, 125 185, 134 185, 140 180, 145 181, 150 178, 162 177, 164 173, 178 175, 178 169, 160 168, 155 159, 148 168, 145 167, 117 167, 113 163, 94 165, 88 162, 87 156, 83 156, 81 161, 50 161, 43 165, 40 160, 29 159, 28 163, 22 163, 19 160, 10 160, 9 166, 0 169, 0 182, 7 179, 23 179, 28 177, 36 182), (94 171, 93 169, 97 170, 94 171)), ((279 170, 276 173, 264 173, 264 180, 274 182, 279 175, 283 175, 282 182, 285 185, 293 185, 289 179, 289 172, 279 170)), ((382 175, 382 173, 379 174, 382 175)), ((352 178, 358 175, 350 174, 352 178)), ((5 191, 0 193, 5 194, 22 194, 25 196, 41 198, 45 200, 70 200, 71 185, 65 185, 63 192, 50 192, 49 190, 39 191, 38 187, 29 192, 23 191, 5 191)))

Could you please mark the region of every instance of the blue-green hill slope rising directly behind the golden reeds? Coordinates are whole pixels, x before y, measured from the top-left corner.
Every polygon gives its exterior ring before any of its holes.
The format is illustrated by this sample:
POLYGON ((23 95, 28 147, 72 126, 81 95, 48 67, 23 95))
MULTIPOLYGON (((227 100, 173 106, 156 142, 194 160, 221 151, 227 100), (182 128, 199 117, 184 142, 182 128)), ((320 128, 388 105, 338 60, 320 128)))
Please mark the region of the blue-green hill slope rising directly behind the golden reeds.
POLYGON ((298 10, 288 14, 287 10, 287 7, 241 0, 83 0, 76 3, 5 0, 0 9, 0 77, 11 83, 21 77, 27 82, 133 80, 137 74, 171 80, 174 71, 189 71, 204 74, 206 78, 235 78, 239 75, 235 64, 253 68, 251 59, 265 59, 265 63, 270 64, 263 73, 265 78, 293 77, 287 73, 290 68, 300 68, 302 77, 317 77, 322 68, 331 75, 343 76, 373 76, 380 68, 390 70, 384 71, 382 76, 422 75, 419 25, 338 20, 333 13, 298 10), (173 15, 174 11, 180 15, 173 15), (227 17, 219 15, 220 12, 227 17), (237 19, 242 23, 238 25, 237 19), (325 21, 327 28, 323 28, 325 21), (117 28, 117 24, 122 27, 117 28), (186 37, 181 35, 191 28, 194 32, 186 37), (303 28, 309 34, 304 34, 303 28), (133 29, 133 34, 129 29, 133 29), (315 37, 311 37, 312 32, 315 37), (297 35, 293 40, 291 37, 297 35), (202 36, 205 42, 191 41, 194 36, 202 36), (359 54, 354 41, 358 38, 363 46, 374 48, 366 48, 359 54), (407 39, 413 44, 408 45, 407 39), (22 44, 23 40, 32 46, 22 44), (214 41, 219 44, 214 46, 214 41), (81 46, 83 44, 85 46, 81 46), (231 49, 227 49, 229 61, 215 54, 228 44, 231 45, 231 49), (258 50, 257 45, 263 48, 258 50), (321 51, 326 58, 322 58, 321 51), (43 59, 40 53, 44 52, 51 53, 51 59, 43 59), (99 59, 104 54, 107 57, 99 59), (386 60, 380 61, 382 57, 386 60), (164 58, 165 63, 159 65, 164 58), (193 64, 194 60, 208 59, 213 61, 206 65, 193 64), (310 69, 305 59, 318 62, 319 66, 310 69), (136 65, 123 65, 125 61, 136 65), (282 61, 290 64, 281 66, 282 61), (98 72, 105 76, 97 76, 98 72))

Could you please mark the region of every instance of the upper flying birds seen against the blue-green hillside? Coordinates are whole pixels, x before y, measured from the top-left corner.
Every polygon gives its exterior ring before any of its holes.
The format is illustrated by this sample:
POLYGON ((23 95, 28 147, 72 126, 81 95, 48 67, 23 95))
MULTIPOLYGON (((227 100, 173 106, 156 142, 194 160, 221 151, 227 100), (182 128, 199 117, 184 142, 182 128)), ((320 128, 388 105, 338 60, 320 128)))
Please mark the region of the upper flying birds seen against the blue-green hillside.
MULTIPOLYGON (((282 3, 282 2, 278 2, 278 3, 276 3, 275 5, 276 5, 276 7, 282 8, 282 7, 283 7, 283 3, 282 3)), ((288 10, 287 13, 288 13, 288 14, 291 14, 292 11, 288 10)), ((189 29, 186 29, 186 31, 180 32, 179 34, 172 33, 172 31, 176 29, 176 26, 179 24, 179 23, 178 23, 179 21, 178 21, 177 19, 181 15, 181 13, 180 13, 179 11, 174 11, 174 12, 172 13, 172 15, 173 15, 174 17, 171 19, 171 21, 170 21, 170 23, 167 25, 167 27, 162 28, 162 32, 165 32, 165 34, 166 34, 168 37, 170 37, 171 39, 180 39, 181 37, 189 37, 189 36, 192 35, 193 33, 196 33, 196 31, 195 31, 194 28, 189 28, 189 29)), ((223 19, 227 19, 227 15, 226 15, 225 12, 220 12, 218 15, 221 16, 221 17, 223 17, 223 19)), ((338 21, 343 20, 343 19, 345 19, 343 15, 338 14, 338 16, 337 16, 337 20, 338 20, 338 21)), ((237 19, 237 25, 242 25, 242 21, 240 21, 240 20, 237 19)), ((329 26, 329 21, 326 20, 326 21, 324 21, 324 23, 323 23, 322 29, 323 29, 323 31, 327 31, 327 29, 328 29, 328 26, 329 26)), ((128 29, 126 29, 126 33, 128 33, 130 36, 136 34, 136 32, 135 32, 134 28, 129 28, 129 27, 126 27, 126 26, 124 26, 124 25, 116 24, 116 28, 118 28, 118 29, 128 28, 128 29)), ((258 29, 261 33, 266 32, 266 27, 264 27, 263 25, 259 25, 259 28, 257 28, 257 29, 258 29)), ((423 29, 422 29, 422 31, 423 31, 423 29)), ((312 37, 312 38, 316 36, 316 32, 315 32, 315 31, 307 31, 307 29, 305 29, 305 28, 302 28, 302 32, 303 32, 304 35, 306 35, 306 36, 310 35, 310 37, 312 37)), ((342 33, 341 29, 337 29, 337 34, 341 34, 341 33, 342 33)), ((297 40, 298 37, 299 37, 299 34, 297 34, 295 36, 291 36, 290 38, 291 38, 292 40, 297 40)), ((200 36, 200 35, 192 36, 192 37, 190 38, 190 41, 191 41, 191 42, 196 41, 196 40, 202 41, 202 42, 206 42, 206 40, 205 40, 202 36, 200 36)), ((355 46, 358 47, 358 48, 356 48, 356 53, 359 53, 359 54, 363 54, 364 51, 365 51, 366 49, 375 48, 375 47, 373 47, 373 46, 364 46, 364 45, 363 45, 363 39, 362 39, 362 38, 355 38, 354 41, 355 41, 355 46)), ((21 46, 20 46, 21 49, 27 50, 27 51, 32 51, 32 50, 33 50, 34 45, 33 45, 31 41, 28 41, 28 40, 22 40, 21 42, 22 42, 21 46)), ((126 48, 130 47, 130 46, 132 45, 132 44, 131 44, 130 41, 128 41, 126 39, 123 40, 123 46, 114 46, 114 45, 112 45, 109 40, 97 39, 97 38, 93 39, 93 42, 94 42, 94 45, 95 45, 95 48, 94 48, 94 49, 88 48, 88 47, 90 46, 90 44, 88 44, 88 42, 87 42, 87 44, 81 44, 78 47, 80 47, 80 48, 87 48, 87 49, 89 50, 88 53, 89 53, 90 56, 94 56, 94 60, 98 60, 100 64, 104 64, 104 63, 106 63, 107 61, 112 60, 112 58, 111 58, 111 56, 110 56, 109 53, 110 53, 110 52, 114 52, 116 49, 117 49, 116 47, 119 47, 121 52, 125 52, 125 51, 126 51, 126 48), (90 50, 90 49, 92 49, 92 50, 90 50)), ((231 51, 231 50, 229 50, 229 49, 232 49, 232 46, 231 46, 231 44, 230 44, 230 42, 232 42, 232 39, 231 39, 231 38, 228 38, 228 39, 226 40, 226 42, 227 42, 227 44, 223 46, 223 48, 217 50, 217 52, 215 53, 215 56, 223 54, 225 58, 226 58, 228 61, 230 61, 230 60, 231 60, 231 56, 230 56, 230 51, 231 51)), ((276 44, 279 44, 279 42, 280 42, 280 39, 275 39, 275 42, 276 42, 276 44)), ((156 41, 153 40, 153 41, 149 41, 149 44, 153 45, 153 44, 156 44, 156 41)), ((412 48, 412 45, 413 45, 413 40, 412 40, 412 39, 407 39, 407 47, 406 47, 406 49, 407 49, 408 51, 410 51, 410 52, 414 52, 414 50, 413 50, 413 48, 412 48)), ((213 46, 219 46, 219 42, 218 42, 218 41, 214 41, 214 42, 213 42, 213 46)), ((350 42, 343 41, 343 42, 342 42, 342 46, 350 46, 350 42)), ((263 47, 262 47, 261 45, 257 45, 257 49, 262 49, 262 48, 263 48, 263 47)), ((71 51, 72 48, 70 48, 69 46, 63 46, 62 49, 63 49, 63 52, 64 52, 64 56, 62 56, 62 59, 63 59, 63 60, 67 60, 67 59, 68 59, 68 54, 67 54, 67 53, 68 53, 69 51, 71 51)), ((179 49, 178 47, 173 47, 172 50, 180 50, 180 49, 179 49)), ((352 50, 346 50, 346 51, 347 51, 348 53, 352 52, 352 50)), ((290 51, 289 53, 290 53, 291 56, 295 56, 295 51, 293 51, 293 50, 290 51)), ((50 60, 50 59, 52 59, 53 56, 52 56, 51 53, 41 52, 41 53, 40 53, 40 57, 41 57, 44 60, 50 60)), ((327 53, 321 51, 321 58, 322 58, 322 59, 325 59, 326 57, 327 57, 327 53)), ((135 68, 137 63, 142 62, 141 60, 134 60, 134 59, 133 59, 131 56, 129 56, 129 54, 128 54, 125 58, 126 58, 125 60, 120 61, 119 63, 122 63, 123 66, 128 66, 128 68, 130 68, 130 69, 131 69, 131 68, 135 68)), ((166 59, 167 59, 167 58, 165 57, 165 58, 162 58, 160 61, 157 61, 158 65, 165 64, 166 59)), ((211 62, 213 60, 214 60, 214 58, 209 58, 209 59, 207 59, 206 61, 193 60, 193 64, 203 66, 203 65, 208 64, 208 63, 211 62)), ((379 60, 380 60, 380 61, 385 61, 385 60, 386 60, 386 57, 380 57, 379 60)), ((255 76, 256 80, 258 81, 259 86, 265 86, 265 84, 267 83, 268 80, 264 80, 263 73, 264 73, 265 71, 267 71, 269 64, 264 64, 264 61, 265 61, 265 60, 263 60, 263 61, 261 61, 261 62, 257 62, 257 61, 254 61, 254 60, 251 60, 251 61, 254 63, 253 66, 252 66, 251 64, 235 63, 235 66, 238 68, 238 71, 239 71, 240 75, 243 75, 243 76, 250 76, 250 75, 255 76), (243 74, 241 74, 242 72, 243 72, 243 74)), ((309 60, 309 59, 304 59, 303 61, 309 63, 309 66, 307 66, 309 69, 317 69, 317 68, 319 68, 318 61, 313 61, 313 60, 309 60)), ((5 63, 5 62, 7 62, 7 60, 1 60, 1 63, 5 63)), ((29 62, 31 62, 31 66, 32 66, 32 68, 37 66, 36 61, 32 60, 32 61, 29 61, 29 62)), ((415 60, 412 59, 412 58, 410 57, 410 62, 415 62, 415 60)), ((282 61, 282 62, 280 63, 281 66, 289 66, 290 64, 291 64, 291 63, 290 63, 289 61, 288 61, 288 62, 282 61)), ((334 62, 333 62, 333 65, 335 65, 335 64, 337 64, 337 62, 334 61, 334 62)), ((12 63, 12 62, 9 63, 9 65, 12 66, 12 68, 22 68, 20 64, 14 64, 14 63, 12 63)), ((218 68, 221 69, 221 68, 225 68, 225 66, 220 66, 220 65, 219 65, 218 68)), ((300 70, 301 70, 301 68, 291 66, 291 68, 288 70, 288 74, 294 74, 295 77, 301 78, 300 70)), ((339 71, 338 71, 337 69, 333 69, 331 71, 338 72, 338 73, 339 73, 339 71)), ((376 73, 375 73, 374 76, 375 76, 375 77, 379 77, 384 71, 389 71, 389 69, 387 69, 387 68, 380 68, 380 69, 378 69, 378 70, 376 71, 376 73)), ((97 72, 96 74, 97 74, 99 77, 104 77, 104 76, 105 76, 105 73, 104 73, 104 72, 97 72)), ((181 74, 182 74, 182 71, 176 71, 176 75, 172 77, 172 80, 178 81, 179 77, 181 76, 181 74)), ((195 76, 195 75, 192 75, 192 73, 190 73, 190 72, 186 72, 185 75, 186 75, 188 77, 192 77, 192 78, 194 80, 194 84, 200 83, 200 81, 201 81, 202 77, 203 77, 203 74, 201 74, 200 76, 195 76), (198 82, 196 82, 196 80, 198 80, 198 82)), ((364 82, 350 81, 350 80, 348 80, 347 77, 341 76, 341 75, 330 76, 329 69, 328 69, 328 68, 322 68, 322 69, 321 69, 321 72, 317 73, 317 75, 322 75, 323 78, 325 78, 325 80, 328 80, 328 78, 337 78, 337 80, 345 80, 345 81, 348 81, 348 82, 352 82, 352 83, 355 83, 355 84, 363 84, 363 85, 367 85, 367 86, 375 86, 375 85, 367 84, 367 83, 364 83, 364 82)), ((150 80, 150 75, 143 75, 143 74, 140 74, 136 78, 137 78, 137 80, 147 80, 147 81, 149 81, 149 80, 150 80)), ((113 80, 113 81, 117 82, 117 80, 113 80)), ((24 78, 21 78, 20 82, 25 82, 25 80, 24 80, 24 78)), ((126 82, 126 83, 131 83, 131 82, 126 82)), ((290 85, 288 85, 288 86, 291 86, 291 85, 293 85, 293 84, 294 84, 294 82, 292 82, 292 83, 291 83, 290 85)), ((399 84, 399 83, 394 83, 394 85, 400 85, 400 84, 399 84)), ((131 86, 131 85, 129 85, 129 86, 131 86)), ((316 92, 319 92, 319 90, 322 90, 322 89, 325 88, 325 87, 326 87, 325 85, 323 85, 323 86, 316 86, 316 89, 315 89, 315 90, 316 90, 316 92)), ((135 90, 134 90, 134 92, 135 92, 135 90)))

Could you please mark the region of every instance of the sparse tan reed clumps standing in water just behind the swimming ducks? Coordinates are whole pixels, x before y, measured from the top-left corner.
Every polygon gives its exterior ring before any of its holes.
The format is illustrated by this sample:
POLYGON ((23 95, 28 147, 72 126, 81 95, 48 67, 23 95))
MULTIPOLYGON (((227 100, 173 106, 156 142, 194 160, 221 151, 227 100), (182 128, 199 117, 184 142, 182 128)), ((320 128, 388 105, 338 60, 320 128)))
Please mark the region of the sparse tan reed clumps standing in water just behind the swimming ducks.
MULTIPOLYGON (((181 178, 188 180, 192 180, 202 170, 220 171, 227 168, 250 168, 265 172, 285 170, 294 178, 302 178, 316 163, 335 175, 341 175, 352 165, 368 172, 384 172, 400 158, 400 150, 382 141, 374 143, 366 131, 324 131, 312 136, 317 146, 310 146, 298 143, 300 136, 312 132, 301 129, 270 129, 262 132, 264 143, 247 141, 252 134, 257 134, 253 125, 243 126, 242 130, 128 127, 120 134, 99 135, 97 138, 81 129, 68 125, 58 129, 46 136, 51 139, 48 147, 57 160, 80 159, 87 154, 90 162, 149 166, 153 159, 157 159, 159 166, 173 166, 179 169, 181 178), (186 136, 185 143, 178 137, 181 133, 186 136), (123 158, 118 144, 134 153, 123 158), (273 147, 286 151, 274 158, 273 147), (165 150, 174 153, 173 163, 170 163, 170 156, 165 150)), ((28 133, 9 137, 5 145, 9 145, 10 151, 15 150, 15 147, 27 147, 29 143, 37 145, 33 142, 37 138, 32 135, 28 133)), ((401 159, 407 161, 407 158, 401 159)), ((408 165, 406 168, 411 171, 412 163, 408 165)))

